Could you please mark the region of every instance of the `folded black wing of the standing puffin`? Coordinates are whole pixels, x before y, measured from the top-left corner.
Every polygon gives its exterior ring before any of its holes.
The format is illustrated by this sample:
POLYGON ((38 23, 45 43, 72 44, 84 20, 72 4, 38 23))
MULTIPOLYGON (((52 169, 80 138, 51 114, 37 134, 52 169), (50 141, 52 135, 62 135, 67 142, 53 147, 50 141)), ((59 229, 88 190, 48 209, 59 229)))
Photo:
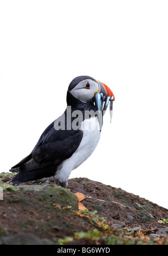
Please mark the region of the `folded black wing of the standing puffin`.
POLYGON ((81 130, 55 130, 54 122, 45 129, 29 156, 13 166, 10 171, 31 171, 68 159, 81 143, 81 130))

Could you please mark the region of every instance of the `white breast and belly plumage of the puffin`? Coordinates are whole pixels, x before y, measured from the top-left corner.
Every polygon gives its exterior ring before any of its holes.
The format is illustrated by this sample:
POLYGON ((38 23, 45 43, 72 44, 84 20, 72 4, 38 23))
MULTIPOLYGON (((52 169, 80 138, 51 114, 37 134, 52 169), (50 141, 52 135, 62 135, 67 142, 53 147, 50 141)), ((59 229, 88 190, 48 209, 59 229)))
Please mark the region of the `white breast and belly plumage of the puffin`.
POLYGON ((83 137, 77 150, 69 159, 63 161, 54 178, 60 181, 68 180, 71 171, 80 166, 94 152, 100 139, 100 125, 97 117, 85 119, 81 123, 83 137))

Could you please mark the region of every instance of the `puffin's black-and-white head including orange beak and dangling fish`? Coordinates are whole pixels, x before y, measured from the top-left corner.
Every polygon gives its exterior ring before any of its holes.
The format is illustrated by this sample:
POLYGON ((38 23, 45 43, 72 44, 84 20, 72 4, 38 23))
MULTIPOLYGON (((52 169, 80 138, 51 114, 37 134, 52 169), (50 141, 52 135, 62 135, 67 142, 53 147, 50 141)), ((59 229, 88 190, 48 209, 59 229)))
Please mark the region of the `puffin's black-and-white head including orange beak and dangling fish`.
POLYGON ((102 115, 104 115, 110 102, 110 117, 112 117, 115 97, 113 92, 104 83, 90 76, 78 76, 69 84, 68 91, 73 97, 82 101, 82 103, 95 101, 99 123, 102 122, 102 115))

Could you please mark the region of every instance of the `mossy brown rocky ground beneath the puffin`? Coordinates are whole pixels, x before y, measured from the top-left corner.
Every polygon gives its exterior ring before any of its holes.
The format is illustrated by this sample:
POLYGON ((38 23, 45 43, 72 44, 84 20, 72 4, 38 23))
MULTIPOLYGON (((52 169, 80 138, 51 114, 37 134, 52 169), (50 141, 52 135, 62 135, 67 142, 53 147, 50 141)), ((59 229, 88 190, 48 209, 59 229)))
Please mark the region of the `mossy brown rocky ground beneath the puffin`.
POLYGON ((0 174, 0 244, 168 244, 168 210, 144 198, 87 178, 14 187, 10 175, 0 174))

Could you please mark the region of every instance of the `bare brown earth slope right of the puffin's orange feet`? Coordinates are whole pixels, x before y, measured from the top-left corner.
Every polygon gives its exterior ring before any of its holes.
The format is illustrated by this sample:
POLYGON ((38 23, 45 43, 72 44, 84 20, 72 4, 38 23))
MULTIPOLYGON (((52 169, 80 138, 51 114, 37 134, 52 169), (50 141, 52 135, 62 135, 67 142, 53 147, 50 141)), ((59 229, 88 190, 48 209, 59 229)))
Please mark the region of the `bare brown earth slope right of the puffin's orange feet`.
POLYGON ((144 198, 135 196, 120 188, 114 188, 87 178, 69 179, 71 192, 81 192, 88 196, 83 201, 89 211, 97 211, 111 223, 142 225, 168 217, 168 210, 144 198))

